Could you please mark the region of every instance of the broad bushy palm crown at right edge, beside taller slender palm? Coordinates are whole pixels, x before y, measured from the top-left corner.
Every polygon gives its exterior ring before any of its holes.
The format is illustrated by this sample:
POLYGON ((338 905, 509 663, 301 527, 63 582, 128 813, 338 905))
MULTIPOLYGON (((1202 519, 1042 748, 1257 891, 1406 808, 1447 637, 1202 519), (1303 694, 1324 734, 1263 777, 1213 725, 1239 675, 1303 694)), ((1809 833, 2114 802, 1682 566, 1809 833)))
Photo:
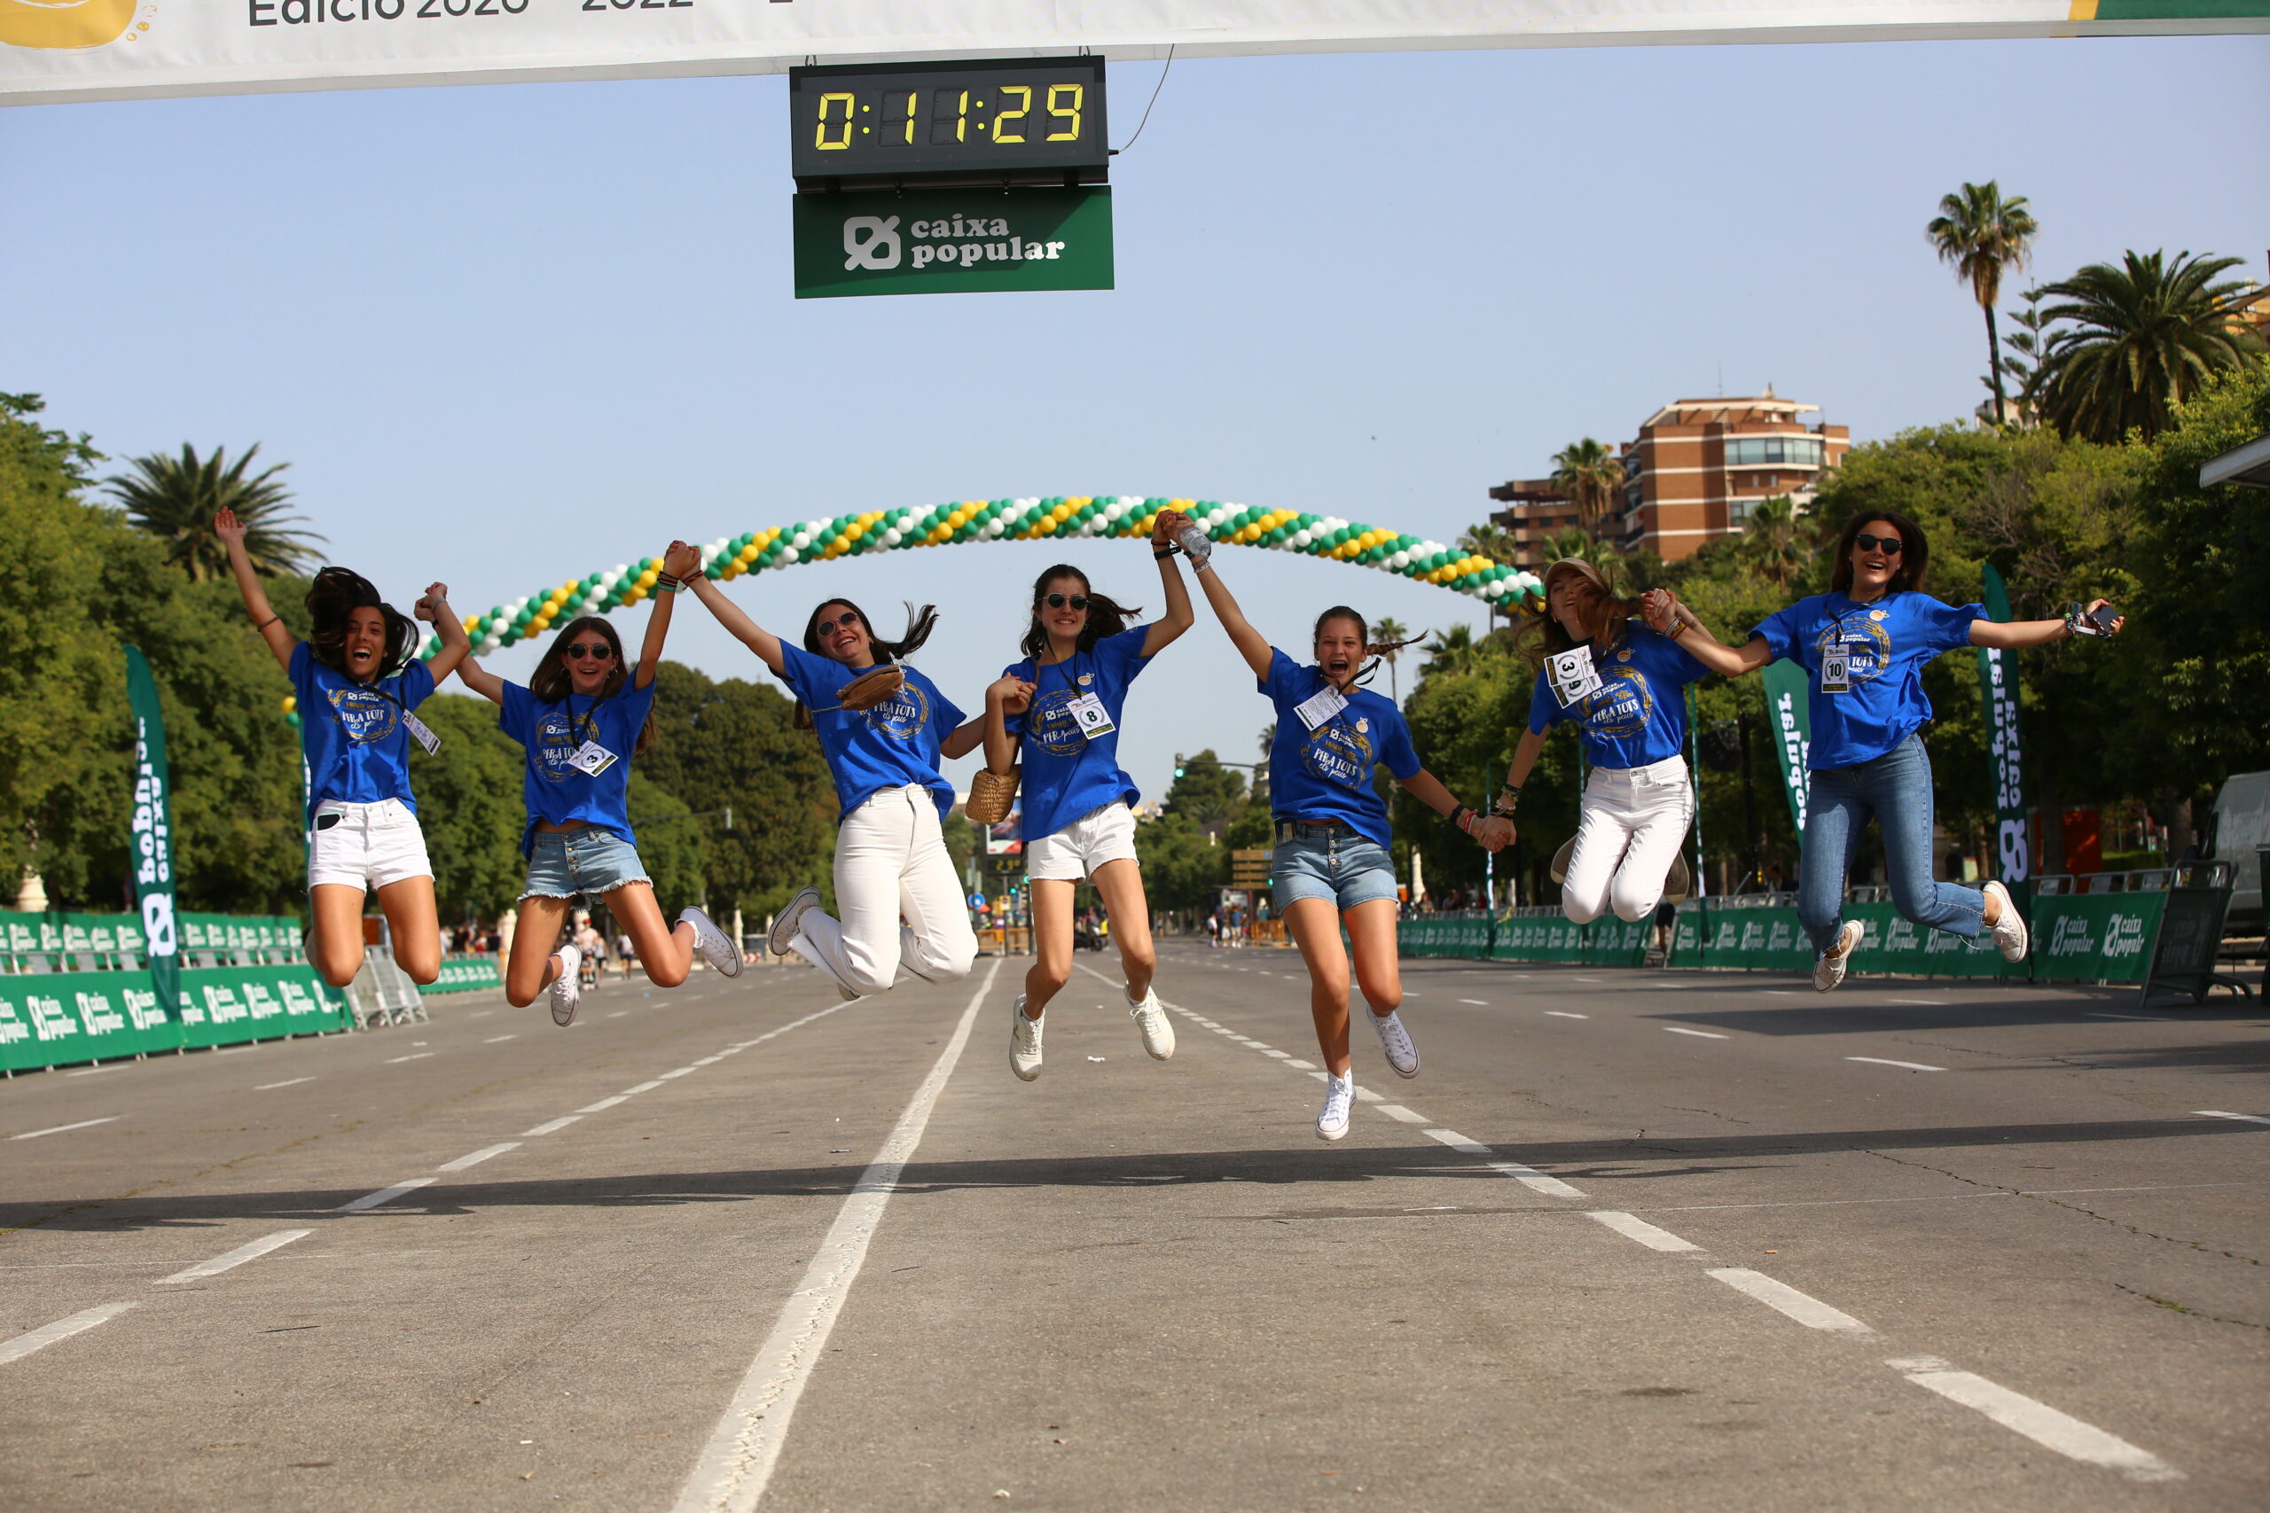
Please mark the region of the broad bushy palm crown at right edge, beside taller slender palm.
POLYGON ((2254 286, 2213 284, 2238 259, 2120 256, 2120 268, 2091 263, 2043 290, 2066 299, 2043 320, 2073 322, 2050 336, 2043 413, 2066 436, 2093 442, 2159 436, 2211 374, 2263 352, 2263 338, 2240 320, 2254 286))

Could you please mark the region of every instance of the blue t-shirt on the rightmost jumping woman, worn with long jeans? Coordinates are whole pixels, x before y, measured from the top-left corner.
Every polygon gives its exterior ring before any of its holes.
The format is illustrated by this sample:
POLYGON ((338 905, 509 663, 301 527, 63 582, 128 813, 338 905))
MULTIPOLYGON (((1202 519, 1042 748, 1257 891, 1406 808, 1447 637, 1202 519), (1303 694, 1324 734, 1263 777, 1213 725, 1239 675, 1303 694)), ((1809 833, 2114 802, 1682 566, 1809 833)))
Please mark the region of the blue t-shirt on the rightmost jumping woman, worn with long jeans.
POLYGON ((1961 608, 1930 594, 1884 594, 1857 603, 1843 594, 1798 599, 1768 615, 1752 635, 1764 635, 1777 658, 1809 674, 1814 749, 1811 771, 1873 762, 1932 719, 1923 696, 1923 665, 1941 651, 1970 644, 1970 622, 1986 619, 1986 606, 1961 608), (1843 646, 1852 656, 1843 694, 1821 690, 1821 653, 1843 646))

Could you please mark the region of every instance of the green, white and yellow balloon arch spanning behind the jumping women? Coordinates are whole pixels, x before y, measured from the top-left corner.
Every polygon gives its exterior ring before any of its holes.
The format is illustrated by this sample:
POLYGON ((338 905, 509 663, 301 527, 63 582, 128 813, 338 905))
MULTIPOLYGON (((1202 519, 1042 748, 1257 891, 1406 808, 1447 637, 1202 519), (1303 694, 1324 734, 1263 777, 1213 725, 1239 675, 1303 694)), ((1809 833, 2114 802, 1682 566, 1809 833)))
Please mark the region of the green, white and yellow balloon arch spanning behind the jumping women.
MULTIPOLYGON (((865 510, 833 519, 806 519, 792 526, 767 526, 742 535, 722 535, 701 547, 701 567, 711 578, 738 578, 765 567, 797 563, 833 563, 844 556, 903 551, 910 547, 947 547, 956 542, 1046 540, 1046 538, 1128 538, 1149 535, 1160 510, 1183 510, 1205 533, 1233 547, 1267 547, 1298 551, 1376 567, 1419 583, 1437 583, 1471 594, 1491 608, 1544 608, 1537 576, 1473 556, 1441 542, 1367 526, 1337 515, 1303 515, 1301 510, 1260 510, 1212 499, 1144 499, 1137 495, 1062 495, 1053 499, 972 499, 962 504, 865 510)), ((495 651, 536 635, 554 622, 577 615, 638 603, 654 590, 661 558, 617 563, 588 578, 570 578, 558 588, 522 594, 486 615, 465 617, 465 635, 474 651, 495 651)), ((427 637, 420 656, 440 651, 440 640, 427 637)))

